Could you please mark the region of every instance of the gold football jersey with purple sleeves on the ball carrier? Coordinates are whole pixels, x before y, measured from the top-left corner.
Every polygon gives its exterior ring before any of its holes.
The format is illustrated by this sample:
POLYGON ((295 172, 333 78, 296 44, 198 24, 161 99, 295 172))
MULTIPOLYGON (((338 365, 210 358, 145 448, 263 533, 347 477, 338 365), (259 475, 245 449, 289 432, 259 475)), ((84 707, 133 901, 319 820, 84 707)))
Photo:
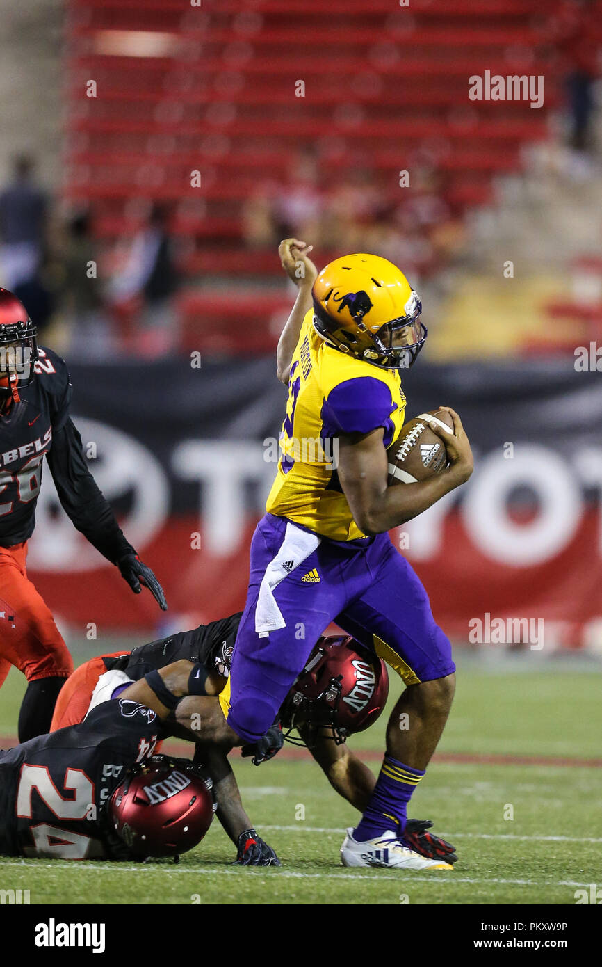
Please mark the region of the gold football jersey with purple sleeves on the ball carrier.
POLYGON ((310 309, 293 355, 280 458, 266 510, 333 541, 365 537, 336 473, 339 433, 385 427, 385 446, 401 430, 406 397, 399 372, 333 349, 313 327, 310 309))

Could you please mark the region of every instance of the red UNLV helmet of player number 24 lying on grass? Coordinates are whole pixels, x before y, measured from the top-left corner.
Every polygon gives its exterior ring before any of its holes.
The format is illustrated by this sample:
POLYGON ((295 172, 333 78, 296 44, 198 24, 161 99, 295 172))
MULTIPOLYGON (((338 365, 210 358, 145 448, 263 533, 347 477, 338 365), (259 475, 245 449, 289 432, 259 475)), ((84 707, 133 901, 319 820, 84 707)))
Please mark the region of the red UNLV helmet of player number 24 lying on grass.
POLYGON ((139 857, 177 856, 201 841, 214 818, 211 779, 188 759, 153 755, 113 790, 108 821, 139 857))

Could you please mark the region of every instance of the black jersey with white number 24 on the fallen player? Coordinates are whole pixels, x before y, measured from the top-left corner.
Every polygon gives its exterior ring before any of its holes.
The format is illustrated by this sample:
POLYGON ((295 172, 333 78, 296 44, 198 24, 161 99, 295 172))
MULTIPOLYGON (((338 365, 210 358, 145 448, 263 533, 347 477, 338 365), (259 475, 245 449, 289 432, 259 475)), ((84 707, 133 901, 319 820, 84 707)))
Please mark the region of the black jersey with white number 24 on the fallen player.
POLYGON ((0 750, 0 854, 126 859, 103 806, 129 767, 164 737, 155 712, 117 698, 79 725, 0 750))

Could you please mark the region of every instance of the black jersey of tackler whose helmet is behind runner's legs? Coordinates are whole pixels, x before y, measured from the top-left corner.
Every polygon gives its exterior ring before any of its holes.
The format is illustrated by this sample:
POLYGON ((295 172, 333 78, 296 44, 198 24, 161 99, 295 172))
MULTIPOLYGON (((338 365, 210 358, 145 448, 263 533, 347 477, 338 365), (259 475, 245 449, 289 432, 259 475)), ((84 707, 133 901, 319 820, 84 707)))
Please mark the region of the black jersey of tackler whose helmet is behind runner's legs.
POLYGON ((118 658, 104 656, 103 661, 107 670, 119 668, 134 681, 144 678, 150 671, 164 668, 172 661, 187 659, 195 664, 205 665, 209 671, 227 677, 230 673, 230 662, 236 633, 239 630, 243 612, 212 621, 209 625, 199 625, 190 631, 179 631, 158 641, 151 641, 148 645, 134 648, 129 655, 118 658))

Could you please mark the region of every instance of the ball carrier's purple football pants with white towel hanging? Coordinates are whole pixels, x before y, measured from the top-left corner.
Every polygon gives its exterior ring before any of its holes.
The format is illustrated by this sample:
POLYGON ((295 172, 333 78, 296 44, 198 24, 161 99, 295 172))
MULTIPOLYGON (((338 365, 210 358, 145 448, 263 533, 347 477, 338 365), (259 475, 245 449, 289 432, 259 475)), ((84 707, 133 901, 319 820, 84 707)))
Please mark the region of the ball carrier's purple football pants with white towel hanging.
POLYGON ((455 670, 426 592, 387 534, 345 544, 267 513, 250 556, 246 605, 220 697, 228 724, 246 742, 270 728, 331 621, 376 651, 407 685, 455 670))

